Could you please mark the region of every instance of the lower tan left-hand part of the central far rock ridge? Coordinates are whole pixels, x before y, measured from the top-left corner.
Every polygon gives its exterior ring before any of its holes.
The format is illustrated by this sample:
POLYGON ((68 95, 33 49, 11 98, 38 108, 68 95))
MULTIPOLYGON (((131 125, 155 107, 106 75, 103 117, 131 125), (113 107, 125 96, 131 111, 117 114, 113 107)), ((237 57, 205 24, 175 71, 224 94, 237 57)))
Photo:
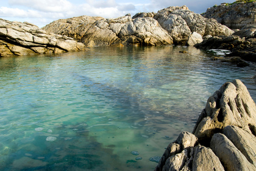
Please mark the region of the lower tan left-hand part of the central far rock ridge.
POLYGON ((172 38, 158 22, 148 15, 132 19, 80 16, 59 19, 43 27, 47 32, 67 35, 86 46, 112 46, 114 44, 165 45, 172 38))

